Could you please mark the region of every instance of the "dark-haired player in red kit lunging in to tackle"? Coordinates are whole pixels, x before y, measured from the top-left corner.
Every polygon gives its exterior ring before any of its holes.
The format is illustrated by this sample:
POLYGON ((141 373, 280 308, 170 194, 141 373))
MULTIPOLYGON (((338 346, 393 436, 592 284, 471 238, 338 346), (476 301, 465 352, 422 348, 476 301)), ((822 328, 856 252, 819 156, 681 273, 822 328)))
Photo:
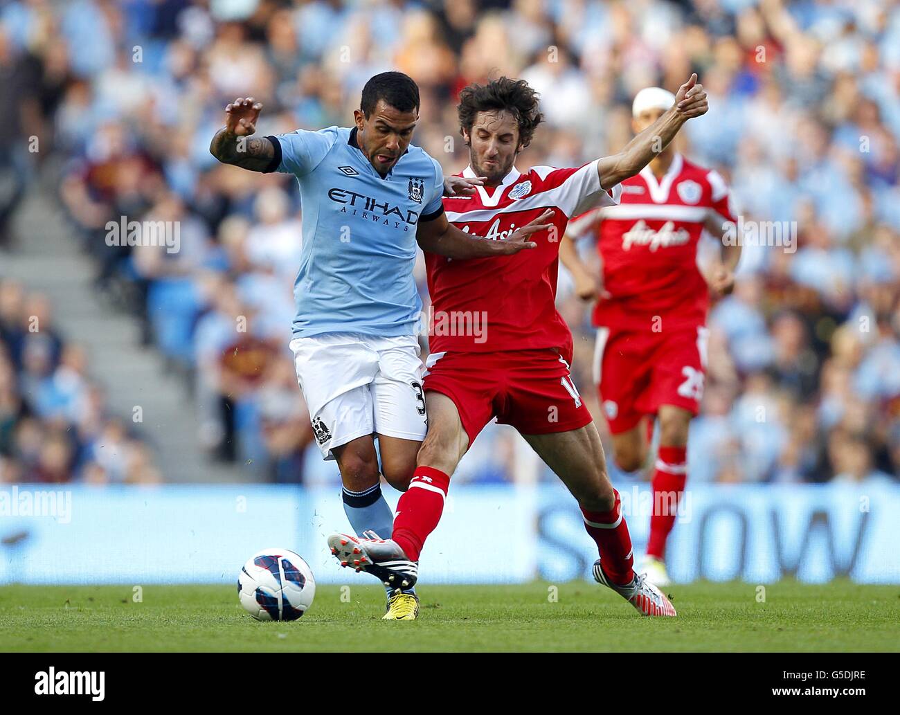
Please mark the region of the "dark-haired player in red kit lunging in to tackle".
MULTIPOLYGON (((417 469, 397 505, 392 539, 329 539, 347 565, 398 586, 418 576, 419 553, 440 519, 450 476, 478 433, 496 417, 514 426, 577 499, 597 543, 593 575, 644 615, 674 616, 669 599, 633 569, 631 538, 609 481, 603 447, 569 374, 572 334, 556 311, 560 240, 569 219, 615 205, 618 184, 637 174, 685 121, 707 111, 697 76, 678 104, 618 154, 573 168, 515 167, 543 117, 534 90, 507 77, 460 94, 460 128, 470 150, 462 173, 471 196, 445 197, 447 219, 467 233, 505 240, 529 222, 550 224, 532 235, 533 250, 494 264, 426 254, 433 326, 424 389, 428 435, 417 469)), ((494 544, 504 558, 515 544, 494 544)), ((482 558, 469 555, 463 558, 482 558)))

